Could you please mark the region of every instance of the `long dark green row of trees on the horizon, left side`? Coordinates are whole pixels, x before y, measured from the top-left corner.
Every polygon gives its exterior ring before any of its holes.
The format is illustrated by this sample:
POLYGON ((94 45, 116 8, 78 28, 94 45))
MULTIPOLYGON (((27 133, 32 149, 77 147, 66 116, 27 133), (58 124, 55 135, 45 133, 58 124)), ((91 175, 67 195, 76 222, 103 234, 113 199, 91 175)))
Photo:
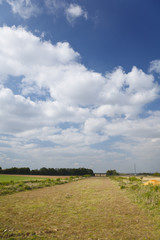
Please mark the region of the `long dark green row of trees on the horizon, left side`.
POLYGON ((88 168, 40 168, 30 170, 28 167, 23 168, 6 168, 0 167, 0 174, 22 174, 22 175, 48 175, 48 176, 83 176, 94 175, 92 169, 88 168))

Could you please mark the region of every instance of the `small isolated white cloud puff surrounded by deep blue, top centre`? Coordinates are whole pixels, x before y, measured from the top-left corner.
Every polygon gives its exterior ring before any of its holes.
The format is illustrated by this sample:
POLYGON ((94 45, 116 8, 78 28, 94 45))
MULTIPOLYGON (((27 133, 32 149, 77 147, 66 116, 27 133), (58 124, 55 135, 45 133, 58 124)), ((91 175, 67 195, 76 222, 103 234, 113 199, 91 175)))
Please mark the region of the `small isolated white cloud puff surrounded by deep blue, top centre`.
POLYGON ((84 17, 85 19, 88 18, 87 12, 83 10, 82 7, 78 4, 71 3, 69 7, 65 9, 65 13, 66 18, 70 23, 74 22, 74 20, 79 17, 84 17))

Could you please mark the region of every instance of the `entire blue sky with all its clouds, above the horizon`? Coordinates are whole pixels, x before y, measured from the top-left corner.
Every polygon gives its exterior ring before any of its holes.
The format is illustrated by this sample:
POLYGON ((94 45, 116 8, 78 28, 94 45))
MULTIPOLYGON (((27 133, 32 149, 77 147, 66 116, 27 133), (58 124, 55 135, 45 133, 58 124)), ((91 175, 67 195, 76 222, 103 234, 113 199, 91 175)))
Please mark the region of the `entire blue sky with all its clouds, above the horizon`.
POLYGON ((0 166, 160 171, 158 0, 0 1, 0 166))

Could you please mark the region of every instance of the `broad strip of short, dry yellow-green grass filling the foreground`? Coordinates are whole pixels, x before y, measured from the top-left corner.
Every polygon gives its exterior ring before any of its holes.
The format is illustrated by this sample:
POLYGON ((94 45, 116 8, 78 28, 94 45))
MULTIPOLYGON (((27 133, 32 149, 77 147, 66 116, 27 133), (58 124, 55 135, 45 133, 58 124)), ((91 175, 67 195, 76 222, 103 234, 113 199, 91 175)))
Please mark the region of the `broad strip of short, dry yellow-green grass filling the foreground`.
POLYGON ((147 212, 107 178, 0 197, 1 239, 159 240, 147 212))

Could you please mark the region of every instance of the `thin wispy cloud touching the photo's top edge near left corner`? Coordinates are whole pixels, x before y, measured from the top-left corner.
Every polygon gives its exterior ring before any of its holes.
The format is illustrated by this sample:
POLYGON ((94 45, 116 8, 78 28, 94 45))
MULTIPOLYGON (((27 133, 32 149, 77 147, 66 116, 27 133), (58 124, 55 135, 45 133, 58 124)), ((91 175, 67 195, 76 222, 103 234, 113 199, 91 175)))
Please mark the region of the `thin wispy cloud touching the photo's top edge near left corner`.
POLYGON ((31 0, 7 0, 7 3, 11 6, 13 13, 19 14, 24 19, 36 16, 41 12, 31 0))

